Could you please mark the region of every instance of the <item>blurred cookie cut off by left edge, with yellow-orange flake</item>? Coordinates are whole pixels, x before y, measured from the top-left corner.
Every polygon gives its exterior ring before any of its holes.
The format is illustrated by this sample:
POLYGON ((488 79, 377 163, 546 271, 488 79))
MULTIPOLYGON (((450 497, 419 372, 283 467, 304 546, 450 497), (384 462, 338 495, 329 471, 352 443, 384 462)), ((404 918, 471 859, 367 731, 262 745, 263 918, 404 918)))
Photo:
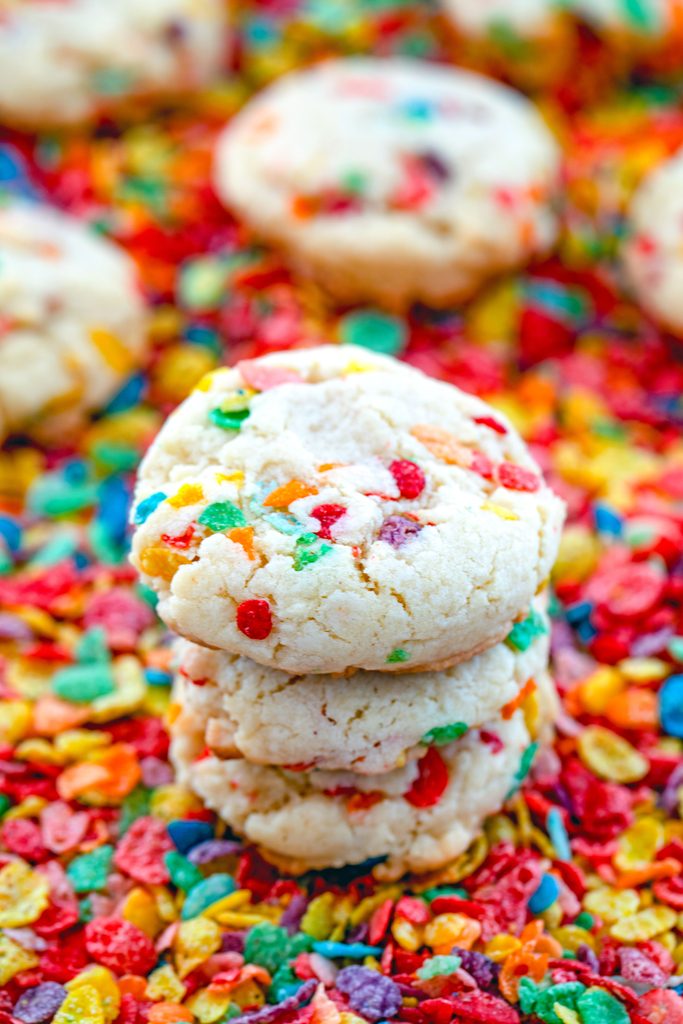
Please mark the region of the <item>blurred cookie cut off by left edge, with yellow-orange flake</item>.
POLYGON ((133 262, 51 207, 0 205, 0 307, 6 431, 77 423, 116 392, 144 352, 133 262))

